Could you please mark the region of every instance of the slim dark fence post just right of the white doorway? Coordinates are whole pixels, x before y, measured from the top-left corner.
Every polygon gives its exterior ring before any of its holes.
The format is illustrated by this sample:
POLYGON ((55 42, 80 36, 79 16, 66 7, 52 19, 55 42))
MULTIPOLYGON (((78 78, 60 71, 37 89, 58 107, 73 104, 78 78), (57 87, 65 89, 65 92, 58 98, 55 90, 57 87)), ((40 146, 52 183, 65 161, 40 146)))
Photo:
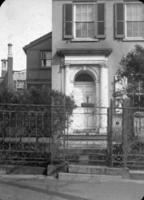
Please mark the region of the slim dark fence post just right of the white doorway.
POLYGON ((110 107, 107 109, 108 112, 108 122, 107 122, 107 152, 108 152, 108 165, 110 167, 113 166, 112 162, 112 113, 113 113, 113 107, 112 107, 112 100, 110 103, 110 107))

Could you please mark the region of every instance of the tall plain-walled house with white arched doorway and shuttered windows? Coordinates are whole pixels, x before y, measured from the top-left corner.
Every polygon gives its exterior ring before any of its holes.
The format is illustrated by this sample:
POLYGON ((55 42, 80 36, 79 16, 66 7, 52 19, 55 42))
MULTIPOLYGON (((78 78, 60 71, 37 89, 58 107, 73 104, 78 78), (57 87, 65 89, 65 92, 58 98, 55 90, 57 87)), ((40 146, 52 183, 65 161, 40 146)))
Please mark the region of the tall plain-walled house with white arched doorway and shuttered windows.
POLYGON ((122 56, 144 46, 138 0, 52 1, 52 89, 74 98, 70 134, 106 135, 107 107, 122 56))

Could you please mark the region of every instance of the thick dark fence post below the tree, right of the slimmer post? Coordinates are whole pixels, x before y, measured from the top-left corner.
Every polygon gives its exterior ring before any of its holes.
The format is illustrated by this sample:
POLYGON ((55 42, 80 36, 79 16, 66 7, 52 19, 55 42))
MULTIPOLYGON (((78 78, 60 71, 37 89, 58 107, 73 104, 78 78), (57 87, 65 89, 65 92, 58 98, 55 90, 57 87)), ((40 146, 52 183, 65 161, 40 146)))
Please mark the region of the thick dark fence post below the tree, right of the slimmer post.
POLYGON ((129 132, 129 99, 123 102, 122 112, 122 144, 123 144, 123 166, 127 168, 128 160, 128 132, 129 132))

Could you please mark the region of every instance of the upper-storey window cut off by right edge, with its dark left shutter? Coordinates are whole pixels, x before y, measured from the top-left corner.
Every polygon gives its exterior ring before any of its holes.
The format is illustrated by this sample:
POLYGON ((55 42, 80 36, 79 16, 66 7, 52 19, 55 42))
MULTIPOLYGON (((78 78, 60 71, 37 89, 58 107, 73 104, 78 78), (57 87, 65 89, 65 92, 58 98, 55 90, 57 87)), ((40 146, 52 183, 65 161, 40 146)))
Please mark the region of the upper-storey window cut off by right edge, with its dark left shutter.
POLYGON ((144 5, 139 2, 115 4, 115 37, 144 39, 144 5))

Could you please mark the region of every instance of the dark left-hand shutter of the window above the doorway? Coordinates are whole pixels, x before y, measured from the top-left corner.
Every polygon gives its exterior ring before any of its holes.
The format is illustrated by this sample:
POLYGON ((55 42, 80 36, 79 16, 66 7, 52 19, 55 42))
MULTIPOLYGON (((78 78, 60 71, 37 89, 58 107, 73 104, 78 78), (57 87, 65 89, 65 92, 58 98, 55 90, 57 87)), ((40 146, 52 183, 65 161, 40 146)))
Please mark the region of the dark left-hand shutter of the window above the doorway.
POLYGON ((63 6, 63 37, 71 39, 73 37, 73 5, 64 4, 63 6))

